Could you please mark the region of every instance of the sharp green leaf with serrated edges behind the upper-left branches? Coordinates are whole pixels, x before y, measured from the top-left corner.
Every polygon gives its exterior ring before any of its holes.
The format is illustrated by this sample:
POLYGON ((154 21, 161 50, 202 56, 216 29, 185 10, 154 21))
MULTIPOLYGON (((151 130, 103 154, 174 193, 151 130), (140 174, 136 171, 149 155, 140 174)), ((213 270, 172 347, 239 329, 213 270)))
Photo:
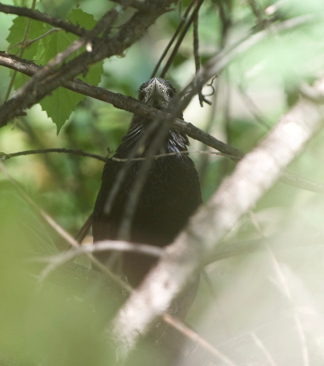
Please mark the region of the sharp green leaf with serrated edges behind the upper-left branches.
MULTIPOLYGON (((83 12, 81 9, 72 10, 69 20, 73 24, 84 27, 85 29, 91 29, 96 24, 93 16, 83 12)), ((22 41, 27 25, 27 19, 18 17, 14 19, 13 23, 14 24, 10 28, 10 34, 7 38, 10 46, 22 41)), ((46 33, 50 29, 52 29, 51 26, 32 20, 29 27, 28 38, 33 40, 46 33)), ((75 34, 66 33, 64 30, 52 32, 26 48, 23 53, 23 58, 33 60, 38 65, 45 65, 49 60, 56 56, 57 53, 66 49, 73 41, 77 39, 78 36, 75 34)), ((15 52, 15 49, 12 51, 15 52)), ((73 57, 80 55, 84 51, 85 47, 82 47, 66 61, 73 59, 73 57)), ((99 82, 101 81, 101 74, 103 72, 102 65, 103 61, 91 66, 87 72, 87 75, 78 75, 77 77, 87 83, 98 86, 99 82)), ((15 90, 21 87, 28 79, 28 76, 18 73, 14 82, 15 90)), ((83 98, 84 96, 82 94, 75 93, 74 91, 70 91, 63 87, 59 87, 52 92, 51 96, 47 96, 40 101, 42 109, 46 111, 48 117, 50 117, 57 125, 57 133, 61 130, 63 124, 74 111, 77 104, 83 100, 83 98)))

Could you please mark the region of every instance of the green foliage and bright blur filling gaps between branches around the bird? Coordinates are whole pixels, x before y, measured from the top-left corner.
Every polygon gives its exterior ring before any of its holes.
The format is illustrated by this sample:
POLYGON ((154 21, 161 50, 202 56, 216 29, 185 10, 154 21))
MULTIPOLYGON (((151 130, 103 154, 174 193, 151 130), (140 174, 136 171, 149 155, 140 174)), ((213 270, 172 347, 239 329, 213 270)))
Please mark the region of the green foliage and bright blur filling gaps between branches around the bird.
MULTIPOLYGON (((6 3, 12 4, 11 1, 6 3)), ((28 7, 31 3, 29 0, 14 1, 15 5, 28 7)), ((225 3, 232 10, 233 21, 228 41, 234 42, 255 26, 257 19, 248 2, 233 0, 225 3)), ((181 12, 188 4, 189 1, 182 1, 181 12)), ((273 5, 273 1, 260 0, 258 4, 266 9, 273 5)), ((113 5, 106 0, 43 0, 37 2, 36 9, 90 29, 113 5)), ((316 19, 324 11, 322 0, 285 0, 274 5, 279 20, 303 15, 313 15, 316 19)), ((85 76, 79 77, 92 85, 135 97, 139 85, 150 77, 179 19, 178 8, 165 14, 125 55, 98 63, 85 76)), ((22 40, 26 22, 26 18, 0 14, 1 50, 22 40)), ((29 39, 50 28, 32 20, 29 39)), ((217 1, 204 2, 200 11, 199 35, 201 59, 206 61, 221 44, 217 1)), ((51 33, 25 49, 22 57, 44 65, 75 39, 76 36, 63 30, 51 33)), ((249 152, 266 135, 267 128, 256 120, 240 89, 243 88, 253 100, 262 120, 273 127, 298 100, 298 85, 301 82, 312 83, 323 76, 323 39, 323 20, 318 19, 279 36, 270 34, 248 52, 241 53, 219 75, 216 80, 218 92, 208 97, 213 105, 201 108, 195 98, 184 113, 185 120, 249 152)), ((16 53, 19 49, 15 46, 10 52, 16 53)), ((193 75, 192 33, 189 32, 167 78, 181 88, 193 75)), ((11 76, 12 72, 7 68, 0 68, 1 101, 11 76)), ((26 76, 18 73, 14 88, 26 80, 26 76)), ((204 91, 208 94, 211 88, 205 87, 204 91)), ((11 153, 67 147, 105 156, 107 147, 114 151, 119 145, 130 120, 128 112, 59 88, 27 111, 26 117, 15 119, 1 128, 0 150, 11 153)), ((200 143, 192 141, 193 150, 203 148, 200 143)), ((192 158, 200 172, 206 202, 224 176, 232 171, 234 163, 226 158, 206 158, 198 153, 193 153, 192 158)), ((323 132, 320 132, 289 170, 323 182, 323 161, 323 132)), ((94 206, 102 162, 51 153, 15 157, 5 164, 45 212, 70 233, 76 234, 94 206)), ((51 283, 44 286, 26 275, 31 270, 39 273, 40 265, 26 263, 25 258, 55 253, 54 242, 58 238, 12 186, 3 177, 1 179, 0 254, 4 265, 0 266, 3 281, 0 290, 3 314, 0 356, 4 363, 109 364, 112 356, 106 350, 106 340, 102 337, 107 321, 103 314, 106 313, 94 310, 101 309, 105 299, 98 295, 99 291, 88 293, 86 284, 81 296, 76 295, 74 284, 62 287, 51 283)), ((324 324, 323 197, 277 183, 258 202, 253 218, 243 217, 225 239, 224 245, 258 239, 262 236, 260 230, 275 244, 276 260, 272 254, 262 251, 208 266, 213 292, 202 280, 188 321, 208 341, 235 359, 238 365, 246 364, 246 360, 259 362, 265 358, 252 341, 254 333, 265 341, 277 365, 303 365, 303 347, 293 321, 297 311, 307 335, 307 350, 316 355, 312 356, 312 364, 321 365, 324 339, 321 328, 324 324), (276 263, 280 263, 281 273, 290 289, 290 299, 284 294, 276 263)), ((83 260, 83 263, 87 262, 83 260)), ((69 283, 66 276, 66 283, 69 283)), ((109 313, 109 309, 106 312, 109 313)), ((149 354, 148 349, 145 352, 149 354)), ((159 362, 163 364, 163 357, 159 362)), ((142 363, 133 360, 133 364, 142 363)))

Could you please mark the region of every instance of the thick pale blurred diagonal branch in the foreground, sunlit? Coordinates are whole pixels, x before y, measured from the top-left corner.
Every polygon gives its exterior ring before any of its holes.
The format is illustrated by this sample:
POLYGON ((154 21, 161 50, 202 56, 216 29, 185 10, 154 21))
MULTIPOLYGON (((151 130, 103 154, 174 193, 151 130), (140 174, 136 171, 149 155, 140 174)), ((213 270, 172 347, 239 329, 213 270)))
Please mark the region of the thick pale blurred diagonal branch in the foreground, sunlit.
MULTIPOLYGON (((324 80, 314 90, 324 94, 324 80)), ((190 219, 187 228, 167 247, 168 254, 145 277, 114 320, 113 332, 122 357, 168 309, 222 238, 279 178, 281 170, 301 152, 322 126, 323 118, 323 104, 301 98, 190 219)))

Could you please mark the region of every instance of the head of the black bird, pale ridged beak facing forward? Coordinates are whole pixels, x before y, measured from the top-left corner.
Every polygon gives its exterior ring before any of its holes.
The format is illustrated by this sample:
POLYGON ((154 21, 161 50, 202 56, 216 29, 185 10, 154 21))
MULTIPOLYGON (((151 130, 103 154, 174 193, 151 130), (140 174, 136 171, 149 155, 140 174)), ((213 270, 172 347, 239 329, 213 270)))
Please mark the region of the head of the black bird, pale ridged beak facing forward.
POLYGON ((138 99, 154 108, 162 109, 174 97, 175 89, 168 80, 153 78, 139 87, 138 99))

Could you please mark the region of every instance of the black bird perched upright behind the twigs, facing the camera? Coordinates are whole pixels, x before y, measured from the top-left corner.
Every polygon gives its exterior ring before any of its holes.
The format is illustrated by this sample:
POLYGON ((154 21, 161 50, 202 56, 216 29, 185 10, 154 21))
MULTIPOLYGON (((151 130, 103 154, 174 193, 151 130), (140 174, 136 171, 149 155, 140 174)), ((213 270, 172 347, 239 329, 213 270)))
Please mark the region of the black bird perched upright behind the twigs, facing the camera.
MULTIPOLYGON (((169 81, 161 78, 150 79, 139 88, 139 100, 152 107, 162 109, 168 106, 175 94, 169 81)), ((182 118, 182 114, 177 116, 182 118)), ((114 154, 114 158, 128 158, 130 152, 145 133, 152 120, 134 115, 127 134, 114 154)), ((155 136, 151 133, 143 146, 139 146, 136 157, 144 157, 145 151, 155 136)), ((170 244, 181 231, 197 207, 202 203, 200 184, 196 168, 187 151, 188 137, 174 128, 168 131, 159 153, 175 153, 154 159, 146 182, 143 186, 132 220, 130 240, 134 243, 146 243, 159 247, 170 244)), ((143 160, 132 161, 126 176, 119 187, 109 213, 105 213, 105 204, 110 190, 124 162, 110 158, 103 168, 102 184, 94 207, 92 232, 94 242, 104 239, 117 239, 118 230, 124 215, 125 204, 143 160)), ((109 253, 100 253, 98 258, 106 262, 109 253)), ((154 265, 156 259, 148 255, 126 253, 123 256, 122 272, 128 282, 137 287, 143 277, 154 265)), ((197 281, 196 281, 197 283, 197 281)), ((195 296, 196 290, 192 288, 195 296)), ((177 316, 184 318, 192 302, 177 316)), ((193 299, 192 299, 193 300, 193 299)))

